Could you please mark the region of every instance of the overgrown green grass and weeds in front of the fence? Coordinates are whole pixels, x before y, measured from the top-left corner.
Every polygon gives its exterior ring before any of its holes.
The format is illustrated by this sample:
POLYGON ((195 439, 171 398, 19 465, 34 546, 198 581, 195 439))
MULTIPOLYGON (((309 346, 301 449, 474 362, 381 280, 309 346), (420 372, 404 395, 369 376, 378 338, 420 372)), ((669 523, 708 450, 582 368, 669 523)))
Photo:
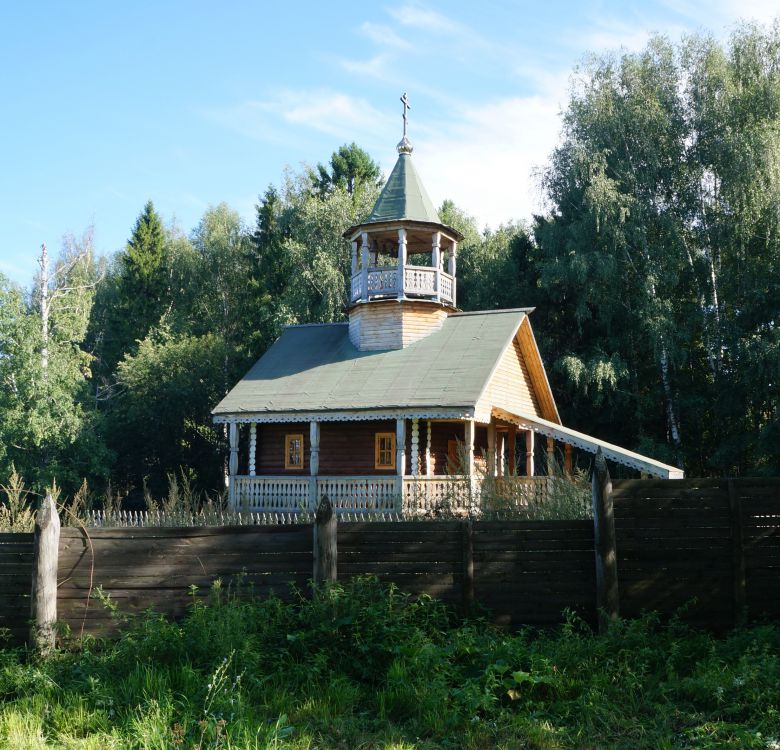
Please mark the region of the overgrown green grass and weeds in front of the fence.
POLYGON ((370 579, 0 651, 0 747, 780 749, 780 628, 506 633, 370 579))

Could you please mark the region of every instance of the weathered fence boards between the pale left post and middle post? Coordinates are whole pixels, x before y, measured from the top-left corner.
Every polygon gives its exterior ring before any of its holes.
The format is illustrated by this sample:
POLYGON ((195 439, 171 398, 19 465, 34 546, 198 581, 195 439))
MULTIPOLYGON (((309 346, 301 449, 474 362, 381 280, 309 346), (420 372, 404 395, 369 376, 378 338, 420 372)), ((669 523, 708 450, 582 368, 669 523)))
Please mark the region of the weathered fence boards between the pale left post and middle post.
POLYGON ((191 587, 281 596, 312 575, 311 526, 63 529, 59 619, 76 634, 109 629, 112 614, 95 600, 98 587, 122 612, 153 608, 180 616, 191 587))

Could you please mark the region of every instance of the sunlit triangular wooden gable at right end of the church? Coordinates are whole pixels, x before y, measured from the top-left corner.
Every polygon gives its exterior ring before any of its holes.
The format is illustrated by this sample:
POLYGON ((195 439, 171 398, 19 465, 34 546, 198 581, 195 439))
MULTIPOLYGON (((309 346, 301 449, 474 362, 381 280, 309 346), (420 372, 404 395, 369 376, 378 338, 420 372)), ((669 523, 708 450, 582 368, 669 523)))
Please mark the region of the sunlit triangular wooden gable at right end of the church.
POLYGON ((478 421, 489 422, 494 409, 541 417, 560 424, 547 374, 531 324, 523 318, 507 344, 477 402, 478 421))

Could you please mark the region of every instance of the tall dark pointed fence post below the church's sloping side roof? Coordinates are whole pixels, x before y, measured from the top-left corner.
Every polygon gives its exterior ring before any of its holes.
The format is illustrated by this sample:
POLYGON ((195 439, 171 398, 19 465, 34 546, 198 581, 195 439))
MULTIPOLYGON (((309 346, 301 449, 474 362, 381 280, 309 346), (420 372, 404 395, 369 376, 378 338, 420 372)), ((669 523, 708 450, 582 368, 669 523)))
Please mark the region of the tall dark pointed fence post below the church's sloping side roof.
POLYGON ((601 448, 596 453, 593 465, 592 493, 593 536, 596 550, 596 607, 599 615, 599 632, 604 633, 609 628, 609 623, 616 620, 620 614, 620 598, 612 480, 601 448))

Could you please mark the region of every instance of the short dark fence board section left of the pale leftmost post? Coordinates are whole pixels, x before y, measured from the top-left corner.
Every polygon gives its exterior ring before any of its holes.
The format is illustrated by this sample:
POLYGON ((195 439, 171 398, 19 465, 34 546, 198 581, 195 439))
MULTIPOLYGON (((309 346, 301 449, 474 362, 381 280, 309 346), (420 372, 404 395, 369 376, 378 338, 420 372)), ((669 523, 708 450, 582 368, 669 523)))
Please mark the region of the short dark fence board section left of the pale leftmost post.
POLYGON ((32 570, 33 535, 0 534, 0 629, 14 642, 29 630, 32 570))

